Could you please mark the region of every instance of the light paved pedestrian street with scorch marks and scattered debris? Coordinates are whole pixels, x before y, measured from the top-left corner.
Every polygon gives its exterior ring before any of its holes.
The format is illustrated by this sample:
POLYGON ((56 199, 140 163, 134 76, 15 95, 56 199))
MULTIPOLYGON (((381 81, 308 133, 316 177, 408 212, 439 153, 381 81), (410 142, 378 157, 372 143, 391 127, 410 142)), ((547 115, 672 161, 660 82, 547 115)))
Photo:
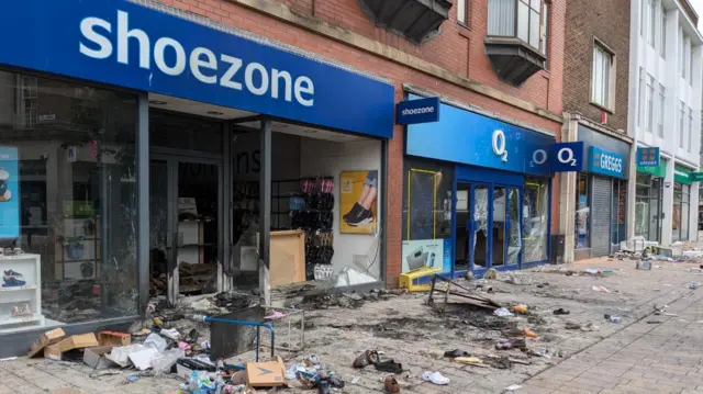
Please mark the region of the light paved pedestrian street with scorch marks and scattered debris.
MULTIPOLYGON (((386 373, 350 367, 366 349, 382 351, 382 359, 403 364, 403 373, 397 376, 402 393, 504 393, 511 385, 522 386, 513 391, 521 394, 703 393, 703 289, 690 289, 691 283, 703 283, 700 262, 656 261, 652 266, 637 270, 634 260, 605 258, 558 266, 559 272, 527 270, 465 282, 471 288, 491 286, 492 293, 481 295, 498 303, 531 307, 529 314, 504 318, 471 308, 457 297, 450 299, 447 312, 438 314, 425 304, 426 294, 365 294, 362 305, 344 304, 347 307, 313 303, 305 313, 314 326, 305 330, 304 353, 280 354, 287 364, 317 354, 325 369, 346 381, 341 393, 382 392, 386 373), (613 272, 583 274, 587 268, 613 272), (566 275, 566 270, 581 273, 566 275), (655 306, 665 305, 665 312, 656 315, 655 306), (554 315, 558 307, 570 314, 554 315), (605 314, 622 320, 611 323, 605 314), (567 323, 593 330, 567 329, 567 323), (547 357, 495 350, 495 341, 510 327, 535 331, 538 338, 529 339, 528 348, 547 357), (489 367, 464 365, 443 357, 453 349, 466 350, 489 367), (503 360, 492 358, 501 356, 503 360), (505 362, 505 357, 520 363, 505 362), (423 382, 424 371, 439 371, 451 382, 446 386, 423 382)), ((245 353, 234 361, 250 361, 250 357, 245 353)), ((182 384, 172 375, 141 375, 126 383, 127 376, 137 375, 130 370, 93 373, 80 363, 0 361, 0 394, 56 393, 62 387, 72 389, 66 392, 71 394, 175 393, 182 384)), ((314 391, 292 382, 290 389, 277 392, 314 391)))

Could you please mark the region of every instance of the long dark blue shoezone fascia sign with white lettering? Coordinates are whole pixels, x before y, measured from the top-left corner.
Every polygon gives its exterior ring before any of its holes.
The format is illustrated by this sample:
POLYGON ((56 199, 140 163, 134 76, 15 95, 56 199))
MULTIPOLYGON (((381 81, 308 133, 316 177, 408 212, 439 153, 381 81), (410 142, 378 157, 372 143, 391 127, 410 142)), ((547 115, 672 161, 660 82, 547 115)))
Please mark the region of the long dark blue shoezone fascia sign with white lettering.
POLYGON ((337 66, 123 0, 3 7, 0 64, 378 137, 393 133, 393 86, 337 66))

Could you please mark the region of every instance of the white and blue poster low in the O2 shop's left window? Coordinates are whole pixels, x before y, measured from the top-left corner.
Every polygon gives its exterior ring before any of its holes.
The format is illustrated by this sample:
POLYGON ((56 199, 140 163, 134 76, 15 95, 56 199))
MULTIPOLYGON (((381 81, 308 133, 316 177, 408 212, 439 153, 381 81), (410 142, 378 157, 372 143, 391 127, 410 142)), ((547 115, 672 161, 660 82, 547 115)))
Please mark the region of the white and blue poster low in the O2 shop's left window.
POLYGON ((451 268, 450 239, 413 239, 403 240, 401 272, 416 270, 422 267, 451 268))

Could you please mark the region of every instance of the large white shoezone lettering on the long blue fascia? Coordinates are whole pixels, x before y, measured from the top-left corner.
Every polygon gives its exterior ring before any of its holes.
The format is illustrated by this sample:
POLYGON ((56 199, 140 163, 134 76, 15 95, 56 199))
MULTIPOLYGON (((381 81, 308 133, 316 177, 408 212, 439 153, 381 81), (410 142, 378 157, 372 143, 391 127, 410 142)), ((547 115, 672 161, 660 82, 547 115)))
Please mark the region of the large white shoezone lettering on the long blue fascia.
MULTIPOLYGON (((112 24, 100 18, 89 16, 80 22, 80 32, 85 38, 80 41, 81 54, 94 58, 107 59, 113 55, 116 46, 116 60, 130 65, 130 48, 138 48, 141 68, 152 69, 154 64, 165 75, 177 77, 186 70, 203 83, 245 90, 256 95, 270 95, 272 99, 295 102, 303 106, 312 106, 315 102, 315 86, 308 76, 294 77, 290 71, 267 68, 256 61, 245 64, 241 58, 215 54, 205 47, 196 47, 188 52, 175 38, 159 37, 152 48, 152 38, 147 32, 130 29, 130 14, 118 11, 116 37, 112 36, 112 24), (103 32, 104 31, 104 32, 103 32), (116 43, 114 41, 116 41, 116 43), (168 63, 166 59, 168 53, 168 63), (244 67, 244 77, 239 70, 244 67)), ((429 108, 428 112, 434 112, 429 108)))

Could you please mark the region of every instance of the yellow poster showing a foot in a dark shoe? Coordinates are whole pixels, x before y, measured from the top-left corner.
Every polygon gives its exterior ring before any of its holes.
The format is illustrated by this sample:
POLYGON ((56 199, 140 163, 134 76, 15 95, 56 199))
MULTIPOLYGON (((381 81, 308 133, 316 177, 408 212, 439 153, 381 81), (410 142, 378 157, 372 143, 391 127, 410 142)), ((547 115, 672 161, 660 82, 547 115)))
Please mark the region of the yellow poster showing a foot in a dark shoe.
POLYGON ((376 233, 378 187, 378 170, 339 173, 339 233, 376 233))

